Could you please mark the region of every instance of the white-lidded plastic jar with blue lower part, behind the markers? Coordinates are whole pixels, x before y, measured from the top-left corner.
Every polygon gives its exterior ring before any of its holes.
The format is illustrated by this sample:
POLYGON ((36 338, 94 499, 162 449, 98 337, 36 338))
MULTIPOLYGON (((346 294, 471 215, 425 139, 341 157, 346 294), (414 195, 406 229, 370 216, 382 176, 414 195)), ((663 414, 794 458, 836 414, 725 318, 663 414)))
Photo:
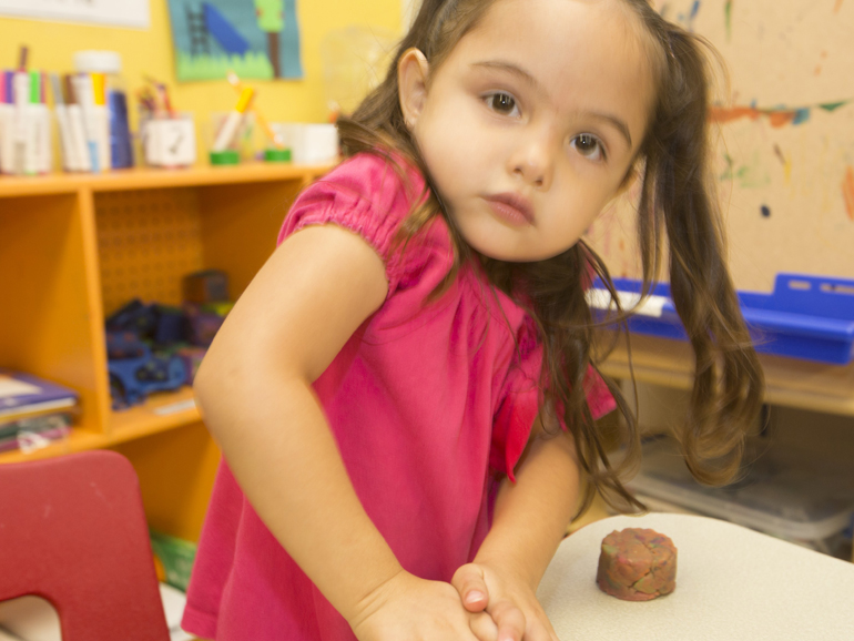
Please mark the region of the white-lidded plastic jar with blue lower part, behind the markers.
POLYGON ((110 118, 110 166, 133 166, 133 145, 128 123, 128 89, 122 78, 122 58, 115 51, 78 51, 74 69, 79 73, 103 73, 110 118))

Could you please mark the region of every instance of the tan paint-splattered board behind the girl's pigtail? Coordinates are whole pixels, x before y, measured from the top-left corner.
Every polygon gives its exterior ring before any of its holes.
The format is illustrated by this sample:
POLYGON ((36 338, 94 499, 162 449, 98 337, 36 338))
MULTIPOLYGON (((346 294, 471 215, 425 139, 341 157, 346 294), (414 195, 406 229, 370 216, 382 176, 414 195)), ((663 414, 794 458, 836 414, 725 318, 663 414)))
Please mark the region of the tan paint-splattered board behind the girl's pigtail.
MULTIPOLYGON (((854 278, 854 0, 657 0, 730 72, 714 120, 730 266, 740 289, 779 272, 854 278)), ((590 240, 612 275, 639 275, 630 207, 590 240)))

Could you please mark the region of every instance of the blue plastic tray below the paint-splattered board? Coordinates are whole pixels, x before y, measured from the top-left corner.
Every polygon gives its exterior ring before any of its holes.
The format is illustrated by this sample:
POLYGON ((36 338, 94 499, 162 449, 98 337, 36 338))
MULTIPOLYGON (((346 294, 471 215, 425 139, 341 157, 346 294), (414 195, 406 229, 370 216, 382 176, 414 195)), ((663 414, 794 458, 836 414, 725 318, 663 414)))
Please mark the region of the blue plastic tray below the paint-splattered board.
MULTIPOLYGON (((622 293, 623 307, 632 306, 641 282, 614 278, 613 283, 622 293)), ((687 340, 670 286, 660 284, 652 294, 629 319, 629 329, 687 340)), ((593 285, 590 299, 599 301, 601 317, 610 301, 601 283, 593 285)), ((772 294, 739 292, 739 302, 756 352, 835 365, 847 365, 854 358, 854 279, 777 274, 772 294)))

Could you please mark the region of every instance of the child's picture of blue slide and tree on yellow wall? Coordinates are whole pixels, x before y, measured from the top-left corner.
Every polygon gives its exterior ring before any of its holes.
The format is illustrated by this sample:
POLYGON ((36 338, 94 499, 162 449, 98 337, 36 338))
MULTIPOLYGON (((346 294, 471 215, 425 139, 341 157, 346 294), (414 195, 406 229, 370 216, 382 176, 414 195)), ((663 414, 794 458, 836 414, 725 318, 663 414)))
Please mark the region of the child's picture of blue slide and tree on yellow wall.
POLYGON ((169 13, 179 81, 303 77, 296 0, 169 0, 169 13))

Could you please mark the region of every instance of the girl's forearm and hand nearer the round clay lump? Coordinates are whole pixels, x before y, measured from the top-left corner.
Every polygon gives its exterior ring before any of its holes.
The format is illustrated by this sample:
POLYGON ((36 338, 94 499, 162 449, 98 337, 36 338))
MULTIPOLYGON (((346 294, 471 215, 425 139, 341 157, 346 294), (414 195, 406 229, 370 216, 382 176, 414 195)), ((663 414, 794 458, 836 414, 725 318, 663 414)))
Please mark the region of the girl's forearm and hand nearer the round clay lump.
POLYGON ((462 566, 453 580, 469 610, 486 608, 492 615, 499 640, 557 641, 536 593, 578 498, 572 436, 565 431, 545 436, 537 419, 517 467, 516 484, 507 478, 501 481, 492 528, 475 561, 462 566))

